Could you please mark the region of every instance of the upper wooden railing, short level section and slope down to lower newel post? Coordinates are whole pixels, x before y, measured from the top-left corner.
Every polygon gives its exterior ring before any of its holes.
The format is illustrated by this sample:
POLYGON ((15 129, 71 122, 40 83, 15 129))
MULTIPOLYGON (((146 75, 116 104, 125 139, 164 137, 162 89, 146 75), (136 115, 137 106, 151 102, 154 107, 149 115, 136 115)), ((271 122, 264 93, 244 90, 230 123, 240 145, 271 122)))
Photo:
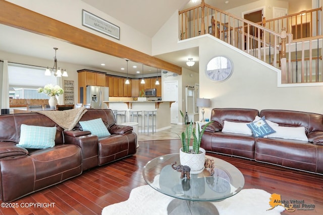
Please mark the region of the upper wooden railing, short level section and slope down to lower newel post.
MULTIPOLYGON (((279 58, 281 34, 205 4, 179 12, 180 40, 205 33, 223 40, 275 67, 279 58)), ((291 34, 286 34, 291 39, 291 34)))

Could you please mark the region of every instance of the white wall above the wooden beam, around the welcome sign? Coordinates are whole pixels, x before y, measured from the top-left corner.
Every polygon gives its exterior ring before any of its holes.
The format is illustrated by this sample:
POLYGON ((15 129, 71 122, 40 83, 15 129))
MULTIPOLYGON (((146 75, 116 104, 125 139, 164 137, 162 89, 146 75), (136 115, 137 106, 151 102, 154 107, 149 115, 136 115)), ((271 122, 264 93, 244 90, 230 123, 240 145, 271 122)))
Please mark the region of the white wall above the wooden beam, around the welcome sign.
POLYGON ((55 1, 43 1, 43 0, 7 0, 13 4, 19 5, 23 8, 27 8, 31 11, 40 13, 47 17, 59 20, 69 25, 75 26, 84 31, 88 31, 92 34, 96 34, 105 39, 120 43, 122 45, 131 47, 138 51, 151 55, 151 38, 142 34, 134 28, 126 25, 125 23, 116 20, 115 18, 93 8, 92 6, 82 2, 81 0, 55 0, 55 1), (105 34, 99 33, 95 30, 87 28, 82 25, 82 9, 98 16, 106 21, 113 23, 120 27, 120 40, 105 34))

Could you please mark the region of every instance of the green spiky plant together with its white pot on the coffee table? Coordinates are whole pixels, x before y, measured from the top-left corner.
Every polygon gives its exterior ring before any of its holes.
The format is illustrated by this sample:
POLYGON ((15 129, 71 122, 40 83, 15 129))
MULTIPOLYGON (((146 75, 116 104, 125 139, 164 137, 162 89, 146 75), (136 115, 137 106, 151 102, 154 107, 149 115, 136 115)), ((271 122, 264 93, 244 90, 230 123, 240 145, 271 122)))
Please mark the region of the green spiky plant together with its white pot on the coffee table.
MULTIPOLYGON (((183 112, 180 112, 184 118, 183 112)), ((181 135, 177 134, 182 141, 182 148, 180 149, 181 165, 189 166, 191 168, 191 173, 193 174, 200 173, 204 169, 205 150, 200 148, 200 145, 204 130, 211 122, 212 121, 206 123, 202 130, 200 130, 200 126, 197 126, 198 131, 196 133, 196 129, 191 121, 186 125, 186 129, 181 133, 181 135), (191 140, 192 135, 193 139, 191 140), (193 142, 192 146, 190 146, 191 141, 193 142)))

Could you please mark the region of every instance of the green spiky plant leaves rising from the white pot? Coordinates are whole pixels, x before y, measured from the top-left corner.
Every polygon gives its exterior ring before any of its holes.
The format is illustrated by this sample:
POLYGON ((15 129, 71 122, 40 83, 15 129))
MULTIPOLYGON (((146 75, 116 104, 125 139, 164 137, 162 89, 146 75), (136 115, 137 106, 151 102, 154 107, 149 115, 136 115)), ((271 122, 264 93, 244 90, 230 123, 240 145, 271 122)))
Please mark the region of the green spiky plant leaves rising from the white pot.
MULTIPOLYGON (((184 118, 183 112, 181 110, 180 110, 180 112, 181 112, 182 117, 184 118)), ((184 153, 191 153, 191 154, 198 154, 199 153, 202 135, 204 133, 205 128, 211 122, 212 121, 206 123, 202 130, 200 130, 200 126, 197 126, 198 127, 197 136, 196 136, 196 129, 193 125, 192 120, 188 125, 186 125, 186 129, 185 129, 185 131, 182 132, 181 136, 179 134, 177 134, 180 137, 180 139, 182 140, 182 151, 184 153), (190 146, 192 135, 193 135, 193 150, 190 151, 189 146, 190 146)))

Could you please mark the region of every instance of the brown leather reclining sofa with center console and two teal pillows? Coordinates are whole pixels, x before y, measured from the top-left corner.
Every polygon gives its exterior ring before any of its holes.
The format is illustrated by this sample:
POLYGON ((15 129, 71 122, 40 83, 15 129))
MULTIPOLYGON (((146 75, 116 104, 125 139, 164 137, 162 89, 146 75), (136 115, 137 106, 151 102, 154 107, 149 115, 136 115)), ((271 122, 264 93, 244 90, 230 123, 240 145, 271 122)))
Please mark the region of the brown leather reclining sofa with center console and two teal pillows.
POLYGON ((110 109, 88 109, 80 121, 102 118, 112 134, 98 139, 81 131, 64 129, 47 116, 32 112, 0 115, 0 191, 9 202, 82 174, 82 171, 136 153, 137 135, 131 126, 117 125, 110 109), (57 127, 55 146, 25 149, 16 146, 21 124, 57 127))

